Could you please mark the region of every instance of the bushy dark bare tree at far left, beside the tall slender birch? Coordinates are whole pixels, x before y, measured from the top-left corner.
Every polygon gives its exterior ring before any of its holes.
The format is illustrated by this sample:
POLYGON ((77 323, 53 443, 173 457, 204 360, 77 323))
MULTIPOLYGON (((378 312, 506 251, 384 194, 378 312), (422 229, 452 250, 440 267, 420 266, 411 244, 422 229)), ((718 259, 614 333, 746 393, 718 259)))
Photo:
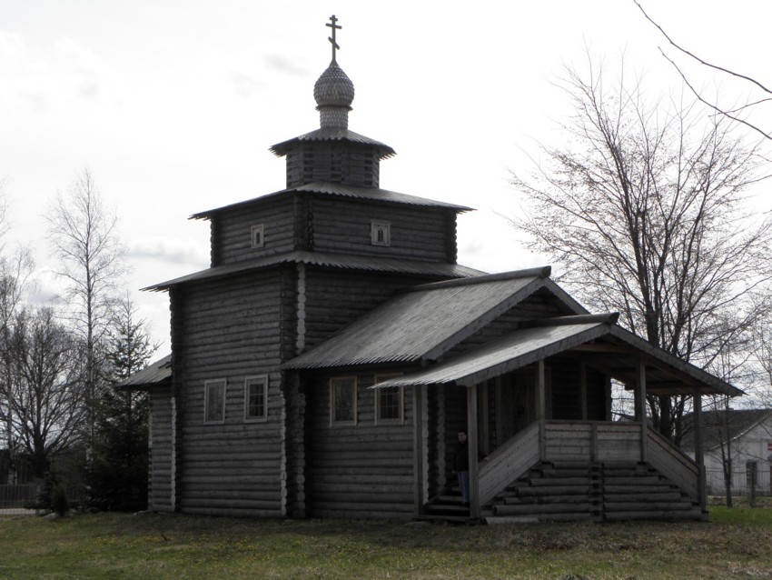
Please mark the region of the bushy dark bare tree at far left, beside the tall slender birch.
POLYGON ((26 455, 36 477, 81 436, 84 418, 82 344, 50 308, 22 310, 4 329, 4 380, 14 451, 26 455))

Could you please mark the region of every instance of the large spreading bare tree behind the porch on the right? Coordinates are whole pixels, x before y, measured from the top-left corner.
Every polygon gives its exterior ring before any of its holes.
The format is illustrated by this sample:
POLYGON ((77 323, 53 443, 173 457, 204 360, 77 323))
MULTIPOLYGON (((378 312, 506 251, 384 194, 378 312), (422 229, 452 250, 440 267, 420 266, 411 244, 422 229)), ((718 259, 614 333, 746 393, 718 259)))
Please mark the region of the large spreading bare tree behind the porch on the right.
MULTIPOLYGON (((715 371, 769 309, 772 223, 743 203, 763 178, 757 149, 695 102, 650 104, 623 75, 607 89, 588 60, 586 76, 569 69, 564 79, 574 107, 566 142, 542 146, 546 165, 529 179, 512 174, 530 204, 513 223, 585 304, 618 311, 650 344, 715 371)), ((678 443, 688 397, 648 403, 678 443)))

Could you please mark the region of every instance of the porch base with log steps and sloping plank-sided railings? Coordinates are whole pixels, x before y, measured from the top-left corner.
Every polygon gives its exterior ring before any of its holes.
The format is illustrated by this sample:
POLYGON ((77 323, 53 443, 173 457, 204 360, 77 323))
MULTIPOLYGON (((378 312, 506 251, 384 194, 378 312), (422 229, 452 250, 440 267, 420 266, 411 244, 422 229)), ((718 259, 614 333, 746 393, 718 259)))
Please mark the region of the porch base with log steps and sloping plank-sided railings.
POLYGON ((446 491, 419 516, 488 523, 705 517, 698 465, 636 424, 534 423, 478 466, 469 508, 446 491))

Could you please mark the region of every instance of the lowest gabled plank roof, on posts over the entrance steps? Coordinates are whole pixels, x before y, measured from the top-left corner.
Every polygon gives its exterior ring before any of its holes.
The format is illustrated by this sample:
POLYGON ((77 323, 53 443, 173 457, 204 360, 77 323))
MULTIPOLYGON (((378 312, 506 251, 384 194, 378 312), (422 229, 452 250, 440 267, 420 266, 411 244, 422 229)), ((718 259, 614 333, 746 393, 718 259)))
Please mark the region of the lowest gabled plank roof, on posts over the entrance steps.
POLYGON ((541 358, 574 351, 588 365, 631 385, 638 360, 647 365, 647 390, 652 394, 742 395, 733 385, 697 366, 649 345, 616 325, 616 316, 565 316, 543 325, 516 330, 472 351, 448 358, 415 373, 383 381, 388 386, 470 386, 504 375, 541 358), (576 322, 572 322, 575 319, 576 322))

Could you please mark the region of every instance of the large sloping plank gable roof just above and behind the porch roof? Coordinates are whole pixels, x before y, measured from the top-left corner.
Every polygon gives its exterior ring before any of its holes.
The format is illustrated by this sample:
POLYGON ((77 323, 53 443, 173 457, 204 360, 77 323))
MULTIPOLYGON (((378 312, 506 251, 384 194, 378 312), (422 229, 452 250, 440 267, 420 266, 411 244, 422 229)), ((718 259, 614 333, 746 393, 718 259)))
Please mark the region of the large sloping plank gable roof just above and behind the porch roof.
POLYGON ((413 286, 282 368, 435 360, 541 288, 567 312, 587 313, 549 273, 547 266, 413 286))

